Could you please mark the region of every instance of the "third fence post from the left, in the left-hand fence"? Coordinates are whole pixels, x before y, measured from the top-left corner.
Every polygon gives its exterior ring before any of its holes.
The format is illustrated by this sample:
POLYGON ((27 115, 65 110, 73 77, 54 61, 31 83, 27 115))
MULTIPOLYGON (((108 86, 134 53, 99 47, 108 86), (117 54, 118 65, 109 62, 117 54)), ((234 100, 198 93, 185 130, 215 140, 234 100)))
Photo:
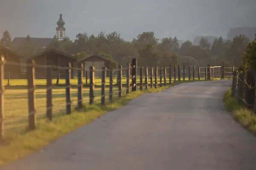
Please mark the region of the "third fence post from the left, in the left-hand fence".
POLYGON ((49 121, 52 121, 52 62, 47 61, 46 80, 47 80, 47 105, 46 116, 49 121))

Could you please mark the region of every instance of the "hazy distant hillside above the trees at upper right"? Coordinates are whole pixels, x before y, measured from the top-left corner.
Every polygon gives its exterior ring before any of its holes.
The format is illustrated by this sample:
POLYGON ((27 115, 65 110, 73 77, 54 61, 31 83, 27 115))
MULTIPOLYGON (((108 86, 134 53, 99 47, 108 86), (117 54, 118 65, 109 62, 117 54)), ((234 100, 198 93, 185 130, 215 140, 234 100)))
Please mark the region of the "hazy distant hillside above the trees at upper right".
POLYGON ((245 35, 246 37, 250 38, 250 41, 253 41, 256 34, 256 27, 231 28, 227 34, 227 39, 233 40, 234 37, 240 34, 245 35))

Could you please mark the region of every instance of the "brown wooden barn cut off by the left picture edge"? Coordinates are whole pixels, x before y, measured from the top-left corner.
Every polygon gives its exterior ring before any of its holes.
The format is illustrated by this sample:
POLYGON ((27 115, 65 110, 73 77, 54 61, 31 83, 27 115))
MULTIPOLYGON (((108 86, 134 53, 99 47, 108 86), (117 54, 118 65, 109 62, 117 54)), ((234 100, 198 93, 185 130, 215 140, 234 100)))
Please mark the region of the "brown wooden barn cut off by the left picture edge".
POLYGON ((4 67, 4 78, 23 79, 20 60, 23 58, 14 51, 0 46, 0 56, 3 55, 6 64, 4 67))

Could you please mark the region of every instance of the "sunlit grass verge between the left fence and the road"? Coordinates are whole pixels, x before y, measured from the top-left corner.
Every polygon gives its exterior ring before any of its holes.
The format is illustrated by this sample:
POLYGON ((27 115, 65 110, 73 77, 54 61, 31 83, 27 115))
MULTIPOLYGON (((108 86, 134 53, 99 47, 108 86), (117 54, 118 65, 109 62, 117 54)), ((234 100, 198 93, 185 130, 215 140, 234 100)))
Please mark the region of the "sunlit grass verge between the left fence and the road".
MULTIPOLYGON (((134 99, 138 96, 141 96, 147 93, 162 91, 170 86, 177 85, 183 82, 195 82, 195 81, 198 81, 198 80, 190 80, 190 81, 182 80, 180 82, 175 82, 175 83, 172 83, 171 85, 167 85, 166 87, 162 87, 162 88, 148 89, 147 91, 144 90, 144 91, 132 92, 130 94, 124 95, 124 97, 120 99, 115 97, 114 102, 113 103, 107 102, 106 106, 101 106, 99 102, 96 102, 94 105, 84 105, 84 108, 82 110, 77 111, 77 110, 74 110, 75 108, 75 105, 74 105, 73 111, 70 115, 66 115, 65 111, 59 111, 58 114, 55 113, 53 115, 52 122, 47 121, 47 119, 38 119, 36 123, 36 129, 30 132, 26 130, 26 126, 15 128, 14 130, 8 131, 4 139, 0 142, 0 164, 8 164, 12 161, 23 158, 24 156, 27 156, 30 153, 33 153, 39 150, 40 148, 50 144, 51 142, 60 138, 61 136, 64 136, 65 134, 70 133, 81 126, 92 122, 93 120, 97 119, 100 116, 103 116, 108 111, 113 111, 117 108, 122 107, 131 99, 134 99)), ((143 89, 145 88, 143 87, 143 89)), ((125 94, 125 90, 123 91, 124 91, 123 94, 125 94)), ((44 91, 39 90, 38 92, 39 94, 37 94, 37 103, 39 103, 38 105, 42 105, 41 107, 44 107, 45 90, 44 91), (40 95, 42 95, 41 99, 39 98, 40 95)), ((13 98, 15 96, 17 97, 19 96, 15 95, 17 91, 12 91, 10 93, 12 94, 10 94, 9 100, 11 100, 10 103, 12 103, 12 101, 14 101, 13 98)), ((59 93, 58 90, 56 90, 55 93, 56 93, 56 102, 59 102, 59 100, 64 100, 65 95, 63 93, 61 95, 58 94, 59 93)), ((76 95, 73 95, 73 96, 76 97, 76 95)), ((18 104, 16 103, 17 106, 15 107, 16 108, 15 113, 23 114, 18 109, 21 108, 23 105, 25 105, 26 101, 24 100, 24 98, 26 98, 26 94, 24 94, 23 99, 18 99, 18 102, 20 101, 22 102, 18 104)), ((62 107, 65 109, 65 106, 62 106, 62 107)), ((9 117, 15 116, 15 113, 10 114, 9 117)), ((25 121, 25 123, 27 122, 25 121)))

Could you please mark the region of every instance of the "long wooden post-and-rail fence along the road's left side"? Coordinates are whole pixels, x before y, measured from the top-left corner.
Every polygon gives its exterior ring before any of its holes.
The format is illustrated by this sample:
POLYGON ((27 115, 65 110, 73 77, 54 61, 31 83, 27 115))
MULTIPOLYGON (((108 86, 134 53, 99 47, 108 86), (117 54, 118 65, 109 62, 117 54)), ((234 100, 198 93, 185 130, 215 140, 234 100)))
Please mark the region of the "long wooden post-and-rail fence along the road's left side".
MULTIPOLYGON (((5 109, 4 109, 4 65, 5 64, 14 64, 12 62, 0 61, 0 139, 4 136, 4 127, 6 123, 5 118, 5 109)), ((18 64, 18 63, 17 63, 18 64)), ((36 109, 35 109, 35 68, 41 67, 46 69, 46 111, 44 113, 47 120, 51 121, 52 116, 52 89, 55 87, 52 84, 52 68, 55 66, 52 65, 51 62, 47 62, 46 65, 36 65, 33 60, 28 60, 26 62, 26 79, 27 79, 27 102, 28 102, 28 129, 34 130, 36 127, 36 109)), ((78 68, 72 68, 70 63, 67 63, 66 67, 58 67, 58 69, 65 70, 65 112, 66 114, 71 114, 72 112, 72 100, 71 100, 71 70, 77 71, 77 109, 81 109, 83 107, 83 86, 87 84, 83 82, 83 65, 81 63, 78 64, 78 68)), ((234 69, 234 68, 232 68, 234 69)), ((158 88, 170 85, 172 82, 181 81, 181 79, 185 80, 210 80, 214 78, 224 78, 225 77, 225 67, 218 66, 218 67, 211 67, 207 65, 206 67, 198 67, 197 69, 195 66, 180 66, 180 65, 169 65, 169 67, 142 67, 137 66, 136 59, 132 59, 131 65, 127 63, 126 68, 122 68, 119 65, 118 69, 116 70, 108 70, 107 68, 102 68, 102 70, 97 70, 102 72, 101 77, 101 94, 100 94, 100 103, 101 105, 106 105, 106 97, 108 97, 109 102, 113 102, 113 87, 118 86, 117 96, 120 98, 124 94, 131 93, 131 91, 143 91, 143 89, 147 90, 149 88, 158 88), (139 75, 137 74, 137 70, 140 70, 139 75), (109 86, 108 89, 106 88, 106 80, 107 76, 106 73, 109 71, 109 86), (116 84, 113 81, 113 72, 117 71, 117 79, 116 84), (125 75, 125 76, 124 76, 125 75), (139 79, 137 79, 137 76, 139 79), (172 81, 173 80, 173 81, 172 81), (138 82, 137 82, 138 81, 138 82), (109 91, 107 96, 106 90, 109 91)), ((92 105, 95 101, 95 76, 94 76, 95 68, 90 67, 89 71, 89 105, 92 105)), ((229 75, 227 75, 229 76, 229 75)), ((57 79, 58 81, 58 79, 57 79)), ((9 80, 8 80, 9 82, 9 80)), ((56 82, 58 85, 58 82, 56 82)), ((23 120, 24 121, 24 120, 23 120)))

